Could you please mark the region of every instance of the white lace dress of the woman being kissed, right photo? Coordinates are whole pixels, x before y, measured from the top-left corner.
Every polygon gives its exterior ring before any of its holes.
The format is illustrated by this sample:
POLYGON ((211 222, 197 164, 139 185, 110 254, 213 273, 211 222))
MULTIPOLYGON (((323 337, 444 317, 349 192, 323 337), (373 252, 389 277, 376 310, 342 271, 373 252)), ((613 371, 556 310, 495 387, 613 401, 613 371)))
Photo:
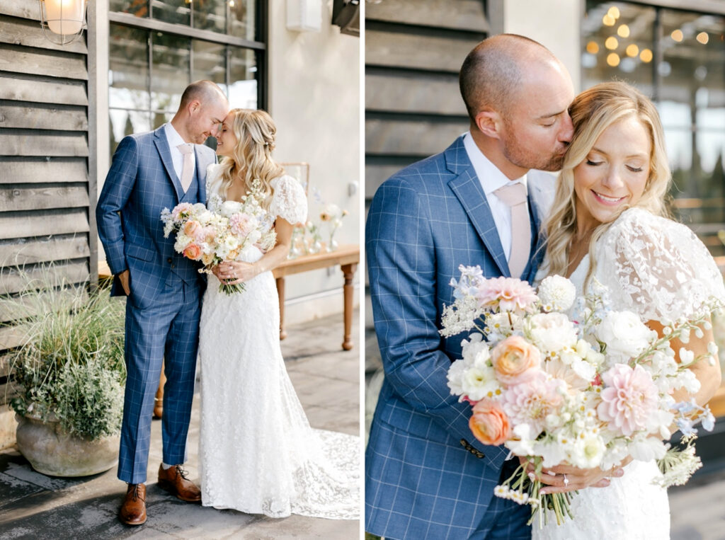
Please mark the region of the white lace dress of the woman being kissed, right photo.
MULTIPOLYGON (((630 310, 642 320, 692 315, 711 296, 725 299, 721 273, 703 243, 689 228, 631 208, 597 241, 595 277, 607 286, 613 310, 630 310)), ((582 295, 589 257, 570 279, 582 295)), ((542 275, 545 275, 545 265, 542 275)), ((537 279, 539 281, 539 279, 537 279)), ((574 495, 573 520, 539 529, 536 540, 662 540, 669 538, 667 491, 653 484, 660 475, 654 461, 633 461, 624 476, 606 488, 574 495)))

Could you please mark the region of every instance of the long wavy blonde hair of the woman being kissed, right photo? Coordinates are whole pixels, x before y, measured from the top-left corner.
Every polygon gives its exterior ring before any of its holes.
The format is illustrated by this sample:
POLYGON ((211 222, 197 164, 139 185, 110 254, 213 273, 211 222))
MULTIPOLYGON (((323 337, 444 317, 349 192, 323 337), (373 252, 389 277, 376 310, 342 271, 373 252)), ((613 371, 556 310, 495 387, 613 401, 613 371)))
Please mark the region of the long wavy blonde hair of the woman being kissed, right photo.
MULTIPOLYGON (((550 217, 544 225, 547 232, 546 270, 549 275, 568 273, 570 248, 576 234, 574 168, 587 159, 597 139, 610 125, 635 117, 645 126, 652 146, 650 174, 642 198, 634 206, 647 209, 655 215, 668 215, 665 198, 670 186, 671 173, 665 151, 662 123, 652 101, 626 83, 600 83, 576 96, 569 114, 574 132, 559 173, 550 217)), ((624 209, 626 207, 621 211, 624 209)), ((597 265, 596 241, 615 219, 616 217, 608 223, 598 225, 589 239, 589 273, 584 281, 585 290, 597 265)))

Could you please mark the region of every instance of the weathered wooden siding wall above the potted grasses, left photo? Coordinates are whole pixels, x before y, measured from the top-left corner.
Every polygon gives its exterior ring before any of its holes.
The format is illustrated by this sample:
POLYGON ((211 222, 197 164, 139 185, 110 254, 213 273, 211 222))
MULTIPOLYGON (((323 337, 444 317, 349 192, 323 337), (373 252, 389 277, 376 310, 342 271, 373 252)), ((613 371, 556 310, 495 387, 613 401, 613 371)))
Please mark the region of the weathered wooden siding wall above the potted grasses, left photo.
MULTIPOLYGON (((36 0, 0 2, 0 360, 22 332, 3 302, 53 263, 70 283, 97 275, 88 175, 88 50, 48 41, 36 0)), ((4 362, 0 362, 4 364, 4 362)), ((0 404, 7 367, 0 365, 0 404)))

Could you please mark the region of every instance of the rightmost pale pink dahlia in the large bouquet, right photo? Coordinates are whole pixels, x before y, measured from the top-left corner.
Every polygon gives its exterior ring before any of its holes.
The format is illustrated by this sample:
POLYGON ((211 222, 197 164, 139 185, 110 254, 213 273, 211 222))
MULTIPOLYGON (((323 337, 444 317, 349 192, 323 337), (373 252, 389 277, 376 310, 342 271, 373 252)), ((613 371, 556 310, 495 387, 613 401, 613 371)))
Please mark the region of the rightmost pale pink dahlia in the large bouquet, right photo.
POLYGON ((616 364, 602 373, 604 389, 597 415, 609 423, 613 431, 630 436, 647 427, 658 407, 657 386, 652 376, 642 366, 634 369, 626 364, 616 364))

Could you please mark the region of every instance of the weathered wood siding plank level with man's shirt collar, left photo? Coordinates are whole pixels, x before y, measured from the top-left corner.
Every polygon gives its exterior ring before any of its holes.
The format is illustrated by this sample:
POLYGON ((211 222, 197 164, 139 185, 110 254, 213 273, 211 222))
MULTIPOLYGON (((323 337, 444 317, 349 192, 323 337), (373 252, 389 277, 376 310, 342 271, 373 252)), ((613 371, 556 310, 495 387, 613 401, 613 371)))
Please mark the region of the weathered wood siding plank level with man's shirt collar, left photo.
POLYGON ((82 132, 6 129, 0 133, 0 148, 7 156, 87 156, 88 140, 82 132))

